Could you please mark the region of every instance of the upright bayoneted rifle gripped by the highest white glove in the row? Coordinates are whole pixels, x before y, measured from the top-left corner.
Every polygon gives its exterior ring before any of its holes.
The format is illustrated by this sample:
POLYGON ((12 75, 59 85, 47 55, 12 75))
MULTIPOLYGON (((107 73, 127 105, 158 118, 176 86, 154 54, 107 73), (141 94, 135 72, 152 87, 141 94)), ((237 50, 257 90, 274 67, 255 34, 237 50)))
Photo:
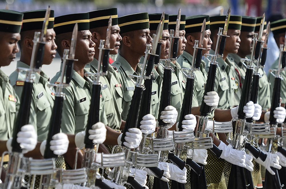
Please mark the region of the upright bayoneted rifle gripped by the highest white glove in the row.
MULTIPOLYGON (((208 79, 206 80, 204 96, 207 95, 206 93, 210 91, 214 91, 215 75, 216 75, 216 71, 218 67, 217 58, 223 57, 226 37, 229 37, 227 36, 227 29, 228 29, 228 23, 230 19, 230 11, 231 9, 229 8, 226 19, 225 19, 224 28, 219 28, 219 32, 217 34, 218 39, 217 39, 217 45, 215 48, 215 54, 204 55, 207 59, 208 57, 211 57, 211 60, 208 59, 208 61, 210 62, 210 68, 208 71, 208 79)), ((222 152, 221 150, 219 150, 219 148, 217 148, 217 146, 213 145, 212 137, 209 136, 209 133, 211 132, 211 130, 206 129, 206 125, 208 121, 207 115, 210 112, 211 112, 211 107, 206 105, 206 103, 204 102, 204 99, 202 99, 202 104, 200 106, 200 116, 198 116, 198 122, 197 122, 196 129, 195 129, 196 132, 195 132, 194 149, 208 149, 209 148, 219 158, 222 152)), ((219 127, 221 127, 221 129, 217 129, 217 131, 220 130, 221 132, 226 132, 227 130, 229 130, 229 128, 225 128, 224 126, 230 127, 231 123, 230 122, 227 122, 227 123, 217 122, 217 124, 219 125, 219 127)), ((202 174, 200 176, 196 176, 193 174, 194 178, 193 178, 193 182, 191 182, 192 183, 191 187, 204 189, 204 188, 207 188, 204 165, 202 164, 199 164, 199 165, 203 167, 202 174), (196 180, 198 180, 198 182, 196 182, 196 180)))

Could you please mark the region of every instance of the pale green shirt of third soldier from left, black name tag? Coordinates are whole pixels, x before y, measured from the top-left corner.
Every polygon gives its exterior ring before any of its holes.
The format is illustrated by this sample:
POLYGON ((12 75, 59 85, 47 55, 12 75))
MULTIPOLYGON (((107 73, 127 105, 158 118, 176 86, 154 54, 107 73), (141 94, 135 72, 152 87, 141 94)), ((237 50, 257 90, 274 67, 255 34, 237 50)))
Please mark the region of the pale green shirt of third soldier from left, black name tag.
MULTIPOLYGON (((62 63, 61 63, 62 64, 62 63)), ((60 70, 52 81, 60 81, 60 70)), ((84 73, 88 72, 84 69, 84 73)), ((65 78, 63 80, 65 82, 65 78)), ((73 70, 70 86, 63 89, 65 100, 63 101, 63 112, 61 118, 61 130, 66 134, 77 134, 84 131, 88 121, 88 112, 90 108, 90 86, 86 79, 82 78, 73 70)), ((100 122, 107 125, 104 108, 104 96, 101 98, 100 104, 100 122)))

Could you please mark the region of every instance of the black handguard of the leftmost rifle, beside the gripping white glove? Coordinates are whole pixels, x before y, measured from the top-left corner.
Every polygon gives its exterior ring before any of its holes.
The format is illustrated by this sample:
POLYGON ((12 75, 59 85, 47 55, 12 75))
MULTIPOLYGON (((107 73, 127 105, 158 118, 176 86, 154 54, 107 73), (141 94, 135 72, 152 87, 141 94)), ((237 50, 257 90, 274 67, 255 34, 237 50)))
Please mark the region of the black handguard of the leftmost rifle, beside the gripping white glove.
POLYGON ((31 97, 32 97, 33 82, 25 81, 23 91, 21 95, 21 104, 18 112, 18 116, 13 128, 13 140, 12 140, 12 151, 22 152, 20 144, 17 142, 17 134, 21 131, 21 127, 29 124, 30 108, 31 108, 31 97))

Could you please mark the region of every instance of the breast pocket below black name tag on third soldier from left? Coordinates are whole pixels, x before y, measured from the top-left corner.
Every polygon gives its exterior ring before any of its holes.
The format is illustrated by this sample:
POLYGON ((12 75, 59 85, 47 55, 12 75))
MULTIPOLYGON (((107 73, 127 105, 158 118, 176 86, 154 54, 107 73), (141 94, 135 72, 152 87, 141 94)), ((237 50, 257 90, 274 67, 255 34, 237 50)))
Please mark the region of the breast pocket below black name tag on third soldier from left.
POLYGON ((90 103, 87 100, 74 105, 74 113, 76 117, 75 133, 81 132, 85 129, 88 120, 89 107, 90 103))

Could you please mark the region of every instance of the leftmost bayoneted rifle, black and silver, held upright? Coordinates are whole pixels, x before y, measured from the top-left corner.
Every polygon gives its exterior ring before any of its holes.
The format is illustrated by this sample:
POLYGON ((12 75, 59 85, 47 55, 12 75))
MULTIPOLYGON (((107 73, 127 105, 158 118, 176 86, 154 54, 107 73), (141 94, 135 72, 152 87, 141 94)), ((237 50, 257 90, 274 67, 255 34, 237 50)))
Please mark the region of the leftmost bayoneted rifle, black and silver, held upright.
MULTIPOLYGON (((3 188, 19 189, 21 187, 29 187, 28 183, 23 183, 23 176, 28 172, 28 158, 24 158, 22 148, 17 142, 17 134, 21 131, 21 127, 29 123, 31 97, 33 89, 33 78, 35 73, 40 71, 43 61, 43 55, 45 50, 45 35, 47 33, 48 19, 50 15, 50 7, 48 6, 45 19, 43 21, 43 28, 41 32, 35 32, 33 39, 33 50, 29 69, 18 68, 17 71, 26 71, 25 83, 23 86, 23 93, 21 95, 21 104, 19 113, 15 121, 13 128, 12 139, 12 152, 4 152, 3 155, 9 154, 9 163, 6 171, 5 182, 3 188)), ((2 158, 3 161, 3 158, 2 158)), ((2 164, 3 162, 1 162, 2 164)), ((2 172, 2 166, 0 168, 2 172)))

